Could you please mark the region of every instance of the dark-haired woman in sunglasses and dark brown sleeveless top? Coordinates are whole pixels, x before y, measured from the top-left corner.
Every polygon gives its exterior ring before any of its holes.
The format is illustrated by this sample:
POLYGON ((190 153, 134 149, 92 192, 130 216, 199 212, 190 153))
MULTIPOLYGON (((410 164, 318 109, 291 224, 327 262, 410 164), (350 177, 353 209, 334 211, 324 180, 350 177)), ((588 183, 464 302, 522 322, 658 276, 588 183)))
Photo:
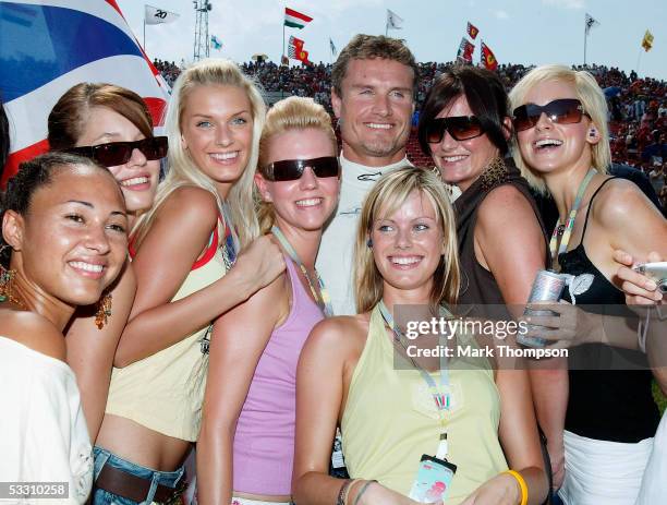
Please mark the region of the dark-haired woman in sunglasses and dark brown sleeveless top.
POLYGON ((507 93, 493 72, 454 67, 430 88, 419 139, 442 180, 463 193, 454 202, 461 256, 460 303, 470 315, 522 313, 535 274, 548 257, 526 181, 508 158, 507 93), (495 305, 495 306, 483 306, 495 305))

